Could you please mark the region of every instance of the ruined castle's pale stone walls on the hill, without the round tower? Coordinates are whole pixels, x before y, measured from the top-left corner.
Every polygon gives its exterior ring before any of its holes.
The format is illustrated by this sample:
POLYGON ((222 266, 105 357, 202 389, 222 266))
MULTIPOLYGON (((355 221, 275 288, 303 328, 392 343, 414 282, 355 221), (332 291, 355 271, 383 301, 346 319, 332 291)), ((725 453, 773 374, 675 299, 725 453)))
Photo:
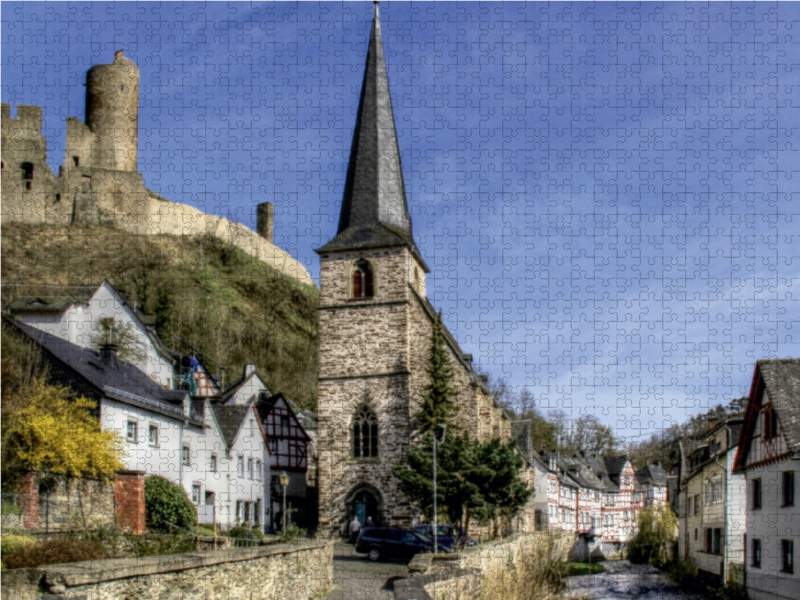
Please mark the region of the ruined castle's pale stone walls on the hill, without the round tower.
POLYGON ((119 150, 109 153, 100 139, 103 135, 98 136, 78 119, 67 119, 65 163, 56 177, 47 164, 41 108, 17 105, 17 116, 12 119, 11 109, 4 103, 1 116, 0 222, 100 223, 139 235, 212 235, 289 277, 314 285, 302 264, 245 225, 170 202, 147 189, 136 172, 135 153, 130 151, 135 138, 120 139, 123 129, 115 122, 103 125, 103 131, 115 137, 119 150), (113 156, 114 164, 124 169, 101 168, 95 164, 97 156, 105 157, 101 164, 111 164, 106 158, 113 156), (32 179, 25 179, 24 163, 32 165, 32 179))

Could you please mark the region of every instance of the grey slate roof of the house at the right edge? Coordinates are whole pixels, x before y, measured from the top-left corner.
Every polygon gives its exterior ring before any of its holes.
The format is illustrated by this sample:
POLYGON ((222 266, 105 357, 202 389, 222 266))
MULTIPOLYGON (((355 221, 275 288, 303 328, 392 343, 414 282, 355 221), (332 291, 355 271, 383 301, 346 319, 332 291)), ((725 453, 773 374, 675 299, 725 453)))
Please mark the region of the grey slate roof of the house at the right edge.
POLYGON ((758 369, 789 450, 800 452, 800 358, 760 360, 758 369))

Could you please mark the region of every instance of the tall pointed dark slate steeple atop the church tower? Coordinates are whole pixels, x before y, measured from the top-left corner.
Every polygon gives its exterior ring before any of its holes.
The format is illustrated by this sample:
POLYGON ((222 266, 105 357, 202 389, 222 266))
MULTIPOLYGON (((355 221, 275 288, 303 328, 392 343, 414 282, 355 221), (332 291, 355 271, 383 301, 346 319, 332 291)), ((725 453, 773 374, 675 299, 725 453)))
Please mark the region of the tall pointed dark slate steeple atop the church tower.
POLYGON ((376 2, 339 228, 317 252, 396 245, 410 246, 419 256, 411 235, 376 2))

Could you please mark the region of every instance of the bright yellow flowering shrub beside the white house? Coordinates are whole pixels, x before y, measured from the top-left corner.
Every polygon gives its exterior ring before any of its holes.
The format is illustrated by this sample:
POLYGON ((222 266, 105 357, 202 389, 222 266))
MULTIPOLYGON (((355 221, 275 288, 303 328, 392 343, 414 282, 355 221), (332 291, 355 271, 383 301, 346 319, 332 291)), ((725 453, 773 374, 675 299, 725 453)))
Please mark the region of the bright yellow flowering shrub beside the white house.
POLYGON ((102 431, 96 403, 70 396, 67 388, 33 382, 24 407, 3 423, 3 473, 26 471, 110 479, 122 468, 122 438, 102 431))

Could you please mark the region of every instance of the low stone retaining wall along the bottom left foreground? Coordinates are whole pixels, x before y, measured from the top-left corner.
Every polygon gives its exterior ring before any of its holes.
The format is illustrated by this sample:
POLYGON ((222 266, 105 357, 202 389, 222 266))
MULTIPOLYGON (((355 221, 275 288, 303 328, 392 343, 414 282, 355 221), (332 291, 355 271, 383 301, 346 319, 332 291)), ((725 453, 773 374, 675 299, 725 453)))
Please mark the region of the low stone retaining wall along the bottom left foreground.
POLYGON ((301 600, 333 585, 333 543, 304 542, 3 572, 2 600, 301 600))

